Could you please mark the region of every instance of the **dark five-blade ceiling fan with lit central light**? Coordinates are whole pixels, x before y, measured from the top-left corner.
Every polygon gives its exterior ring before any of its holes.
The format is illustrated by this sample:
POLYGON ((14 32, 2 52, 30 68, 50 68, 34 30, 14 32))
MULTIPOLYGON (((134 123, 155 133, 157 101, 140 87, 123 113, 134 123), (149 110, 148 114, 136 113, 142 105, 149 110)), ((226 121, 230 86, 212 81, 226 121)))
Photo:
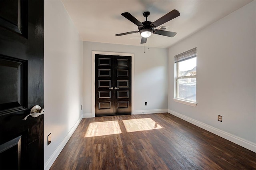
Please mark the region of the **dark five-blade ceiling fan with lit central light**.
POLYGON ((165 14, 155 22, 150 22, 147 20, 148 16, 150 15, 150 12, 146 11, 143 13, 143 16, 146 17, 146 21, 144 22, 139 22, 132 14, 129 12, 124 12, 121 14, 124 16, 126 19, 130 20, 132 23, 138 26, 138 31, 131 31, 131 32, 125 32, 121 34, 116 34, 116 36, 123 36, 127 34, 133 34, 140 32, 140 35, 142 36, 141 42, 140 43, 146 43, 147 38, 150 37, 152 34, 158 34, 161 36, 168 36, 168 37, 174 37, 177 33, 176 32, 170 32, 170 31, 164 31, 164 30, 157 30, 154 29, 178 16, 180 16, 180 12, 177 10, 172 10, 168 14, 165 14))

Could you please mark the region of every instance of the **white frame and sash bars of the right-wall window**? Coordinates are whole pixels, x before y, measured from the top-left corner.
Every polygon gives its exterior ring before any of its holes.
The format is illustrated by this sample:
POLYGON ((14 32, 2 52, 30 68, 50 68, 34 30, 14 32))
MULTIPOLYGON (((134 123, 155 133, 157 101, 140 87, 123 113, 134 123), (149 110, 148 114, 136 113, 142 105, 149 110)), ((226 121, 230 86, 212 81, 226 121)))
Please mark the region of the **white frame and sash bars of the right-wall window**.
POLYGON ((192 59, 194 57, 196 57, 196 60, 197 60, 197 53, 196 53, 196 47, 193 48, 193 49, 190 49, 188 51, 185 51, 184 53, 181 53, 181 54, 178 54, 178 55, 175 55, 175 62, 174 62, 174 70, 175 70, 175 76, 174 76, 174 82, 175 82, 175 85, 174 85, 174 98, 173 100, 175 102, 178 102, 178 103, 183 103, 183 104, 186 104, 186 105, 190 105, 190 106, 193 106, 193 107, 196 107, 197 103, 196 101, 193 101, 193 100, 190 100, 190 99, 183 99, 183 98, 180 98, 178 97, 178 80, 179 79, 188 79, 188 78, 196 78, 197 75, 188 75, 188 76, 179 76, 179 62, 182 62, 182 61, 178 61, 178 57, 179 56, 182 56, 182 55, 185 55, 185 54, 189 54, 191 53, 191 51, 195 51, 195 54, 194 55, 191 55, 190 57, 187 57, 189 59, 192 59))

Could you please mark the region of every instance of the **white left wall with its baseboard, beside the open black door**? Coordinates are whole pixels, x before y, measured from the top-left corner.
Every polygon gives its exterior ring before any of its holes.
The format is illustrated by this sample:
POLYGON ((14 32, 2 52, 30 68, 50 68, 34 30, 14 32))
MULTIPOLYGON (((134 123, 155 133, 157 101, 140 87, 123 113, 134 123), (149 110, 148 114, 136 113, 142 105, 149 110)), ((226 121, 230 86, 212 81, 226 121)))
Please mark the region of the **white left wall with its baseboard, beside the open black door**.
POLYGON ((44 1, 44 162, 50 168, 82 119, 82 41, 60 0, 44 1), (47 145, 47 135, 52 142, 47 145))

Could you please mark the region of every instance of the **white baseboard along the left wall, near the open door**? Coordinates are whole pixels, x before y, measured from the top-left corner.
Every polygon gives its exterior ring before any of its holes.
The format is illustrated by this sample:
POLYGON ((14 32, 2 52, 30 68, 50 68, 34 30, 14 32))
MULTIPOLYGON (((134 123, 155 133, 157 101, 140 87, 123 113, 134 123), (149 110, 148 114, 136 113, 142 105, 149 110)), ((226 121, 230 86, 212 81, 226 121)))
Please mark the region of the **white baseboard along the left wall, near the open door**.
POLYGON ((44 170, 49 170, 51 168, 52 164, 54 163, 54 161, 56 160, 56 158, 58 157, 58 155, 60 154, 60 152, 62 151, 62 149, 64 148, 64 146, 66 145, 66 143, 68 142, 68 140, 70 139, 70 137, 72 136, 72 134, 74 133, 74 131, 76 130, 76 128, 78 127, 81 121, 82 121, 82 116, 78 119, 76 124, 71 128, 71 130, 68 132, 66 137, 62 140, 60 145, 56 148, 56 150, 50 156, 50 158, 45 162, 44 170))

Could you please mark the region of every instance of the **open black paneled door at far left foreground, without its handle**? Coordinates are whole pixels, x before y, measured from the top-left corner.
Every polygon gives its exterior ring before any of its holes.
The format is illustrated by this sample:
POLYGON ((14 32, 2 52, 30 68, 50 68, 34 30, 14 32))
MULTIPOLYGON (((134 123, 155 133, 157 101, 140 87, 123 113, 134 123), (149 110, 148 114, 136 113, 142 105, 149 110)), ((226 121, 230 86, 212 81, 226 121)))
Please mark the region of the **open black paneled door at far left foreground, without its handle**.
POLYGON ((44 168, 44 1, 0 0, 0 169, 44 168))

